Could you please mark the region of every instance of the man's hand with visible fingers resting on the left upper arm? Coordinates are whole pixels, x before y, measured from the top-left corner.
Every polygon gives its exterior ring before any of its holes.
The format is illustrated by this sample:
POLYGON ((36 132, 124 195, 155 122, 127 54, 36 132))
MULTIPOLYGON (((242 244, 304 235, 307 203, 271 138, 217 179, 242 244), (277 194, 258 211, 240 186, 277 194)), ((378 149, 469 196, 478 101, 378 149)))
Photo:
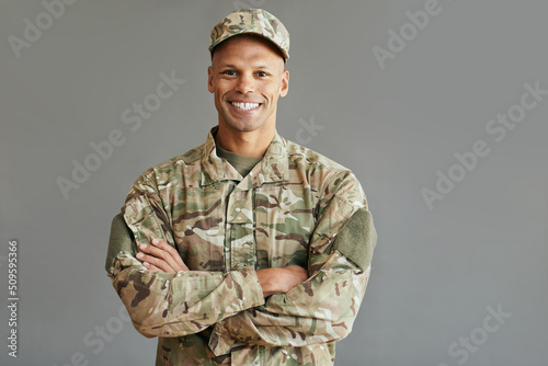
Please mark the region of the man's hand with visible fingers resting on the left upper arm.
POLYGON ((137 253, 137 259, 150 271, 176 273, 189 271, 175 248, 160 239, 152 239, 152 245, 140 244, 142 253, 137 253))

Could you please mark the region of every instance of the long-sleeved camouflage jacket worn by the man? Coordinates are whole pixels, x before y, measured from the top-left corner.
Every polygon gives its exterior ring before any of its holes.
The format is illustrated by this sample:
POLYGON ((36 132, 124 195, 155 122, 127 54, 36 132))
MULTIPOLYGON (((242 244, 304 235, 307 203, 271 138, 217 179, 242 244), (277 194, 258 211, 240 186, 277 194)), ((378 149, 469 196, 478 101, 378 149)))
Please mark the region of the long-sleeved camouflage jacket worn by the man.
POLYGON ((159 338, 157 365, 332 365, 376 243, 359 183, 277 134, 242 178, 216 155, 214 131, 135 181, 122 208, 135 240, 107 259, 114 288, 137 331, 159 338), (362 236, 338 248, 357 213, 362 236), (136 244, 152 238, 175 247, 191 271, 148 271, 136 244), (255 270, 292 264, 309 278, 264 299, 255 270))

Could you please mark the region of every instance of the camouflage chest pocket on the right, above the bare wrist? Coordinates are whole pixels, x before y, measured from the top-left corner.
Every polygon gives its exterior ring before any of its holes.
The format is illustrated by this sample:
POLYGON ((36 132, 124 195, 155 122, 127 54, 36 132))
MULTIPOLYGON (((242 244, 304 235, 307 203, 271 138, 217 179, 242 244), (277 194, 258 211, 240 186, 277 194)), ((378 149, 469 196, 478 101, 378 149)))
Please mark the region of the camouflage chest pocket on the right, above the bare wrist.
POLYGON ((307 267, 315 227, 313 192, 301 185, 264 184, 255 190, 256 267, 307 267))

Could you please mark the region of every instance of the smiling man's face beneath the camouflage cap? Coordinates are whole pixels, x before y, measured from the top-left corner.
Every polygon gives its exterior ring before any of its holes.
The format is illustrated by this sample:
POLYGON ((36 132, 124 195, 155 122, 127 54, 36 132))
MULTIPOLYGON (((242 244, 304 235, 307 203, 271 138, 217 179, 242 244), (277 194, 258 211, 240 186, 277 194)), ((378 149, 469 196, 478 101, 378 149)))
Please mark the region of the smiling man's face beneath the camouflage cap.
POLYGON ((232 131, 273 130, 279 96, 287 94, 289 72, 269 41, 238 35, 222 42, 207 69, 219 126, 232 131))

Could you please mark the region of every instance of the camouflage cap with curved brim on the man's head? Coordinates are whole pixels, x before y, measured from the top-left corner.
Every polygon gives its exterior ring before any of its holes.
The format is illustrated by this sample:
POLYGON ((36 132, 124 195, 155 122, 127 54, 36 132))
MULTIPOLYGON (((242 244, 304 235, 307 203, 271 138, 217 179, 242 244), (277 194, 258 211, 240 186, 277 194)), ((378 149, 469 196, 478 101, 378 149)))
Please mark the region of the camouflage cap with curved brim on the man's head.
POLYGON ((246 33, 271 41, 284 55, 284 61, 289 58, 289 32, 276 16, 262 9, 240 9, 228 14, 212 30, 209 52, 222 41, 246 33))

